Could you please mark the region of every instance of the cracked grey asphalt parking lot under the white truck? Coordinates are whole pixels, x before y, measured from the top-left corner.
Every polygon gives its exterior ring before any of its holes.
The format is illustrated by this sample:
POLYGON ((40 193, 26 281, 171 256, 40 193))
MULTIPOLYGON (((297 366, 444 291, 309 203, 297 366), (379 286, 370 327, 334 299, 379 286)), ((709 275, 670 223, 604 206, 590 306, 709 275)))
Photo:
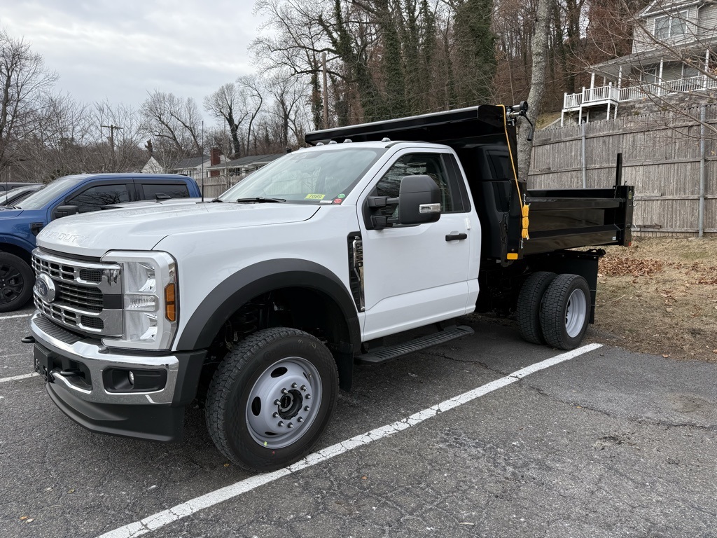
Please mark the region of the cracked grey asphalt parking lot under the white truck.
POLYGON ((0 314, 0 537, 717 537, 717 364, 468 320, 357 368, 319 456, 252 475, 198 409, 176 444, 72 423, 26 377, 30 311, 0 314))

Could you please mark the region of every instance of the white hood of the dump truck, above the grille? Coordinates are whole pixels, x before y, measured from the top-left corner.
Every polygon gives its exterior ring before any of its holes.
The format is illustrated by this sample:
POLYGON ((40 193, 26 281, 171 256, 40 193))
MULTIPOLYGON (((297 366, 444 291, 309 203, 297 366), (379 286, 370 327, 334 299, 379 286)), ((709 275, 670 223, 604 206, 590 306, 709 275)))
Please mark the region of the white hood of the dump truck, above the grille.
POLYGON ((168 235, 308 220, 315 205, 199 203, 112 209, 64 217, 37 236, 37 245, 100 258, 109 250, 152 250, 168 235))

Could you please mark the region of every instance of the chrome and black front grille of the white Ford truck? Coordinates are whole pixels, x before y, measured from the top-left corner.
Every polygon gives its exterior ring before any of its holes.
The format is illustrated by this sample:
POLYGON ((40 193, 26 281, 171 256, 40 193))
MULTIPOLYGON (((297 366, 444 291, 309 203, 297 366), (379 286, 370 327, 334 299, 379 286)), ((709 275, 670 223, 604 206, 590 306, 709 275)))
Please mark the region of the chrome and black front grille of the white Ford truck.
POLYGON ((122 304, 119 265, 65 259, 37 248, 32 267, 52 279, 53 291, 41 296, 33 290, 35 306, 47 319, 85 334, 122 336, 121 307, 105 308, 122 304))

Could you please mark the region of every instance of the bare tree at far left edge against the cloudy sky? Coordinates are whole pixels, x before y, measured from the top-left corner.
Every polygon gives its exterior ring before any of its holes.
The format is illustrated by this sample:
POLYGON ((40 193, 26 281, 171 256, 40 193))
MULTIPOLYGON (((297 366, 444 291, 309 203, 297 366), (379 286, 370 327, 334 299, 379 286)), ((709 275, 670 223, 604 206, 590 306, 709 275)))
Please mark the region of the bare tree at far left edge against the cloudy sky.
POLYGON ((26 136, 57 75, 47 70, 29 43, 0 30, 0 172, 22 159, 17 144, 26 136))

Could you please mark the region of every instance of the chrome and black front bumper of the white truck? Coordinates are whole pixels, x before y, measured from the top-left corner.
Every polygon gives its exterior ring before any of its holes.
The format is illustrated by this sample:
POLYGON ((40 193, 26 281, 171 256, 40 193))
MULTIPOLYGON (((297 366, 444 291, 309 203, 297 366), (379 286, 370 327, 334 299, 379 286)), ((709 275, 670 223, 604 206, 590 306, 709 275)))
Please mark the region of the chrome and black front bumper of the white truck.
POLYGON ((113 435, 172 441, 184 433, 184 407, 194 399, 206 351, 165 356, 110 351, 95 339, 62 329, 36 312, 35 369, 57 407, 85 428, 113 435), (111 370, 159 372, 156 390, 108 388, 111 370))

